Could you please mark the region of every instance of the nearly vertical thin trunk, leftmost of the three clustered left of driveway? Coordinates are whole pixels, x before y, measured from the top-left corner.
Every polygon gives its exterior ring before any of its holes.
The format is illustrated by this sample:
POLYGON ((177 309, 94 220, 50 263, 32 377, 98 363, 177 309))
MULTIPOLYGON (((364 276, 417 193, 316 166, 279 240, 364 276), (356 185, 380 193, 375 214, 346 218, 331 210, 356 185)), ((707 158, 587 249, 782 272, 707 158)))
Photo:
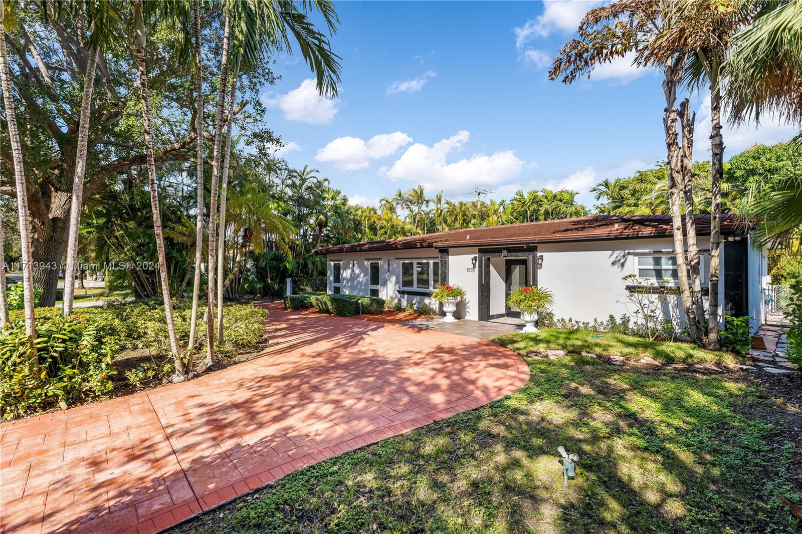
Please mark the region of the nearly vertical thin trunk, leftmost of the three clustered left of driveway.
POLYGON ((204 99, 203 99, 203 61, 201 61, 201 2, 193 0, 192 14, 195 18, 195 98, 197 115, 197 163, 195 179, 197 187, 197 217, 195 222, 195 281, 192 283, 192 317, 189 320, 188 349, 195 346, 195 335, 198 321, 198 301, 201 294, 201 263, 203 262, 203 216, 205 209, 204 176, 203 176, 203 133, 204 133, 204 99))

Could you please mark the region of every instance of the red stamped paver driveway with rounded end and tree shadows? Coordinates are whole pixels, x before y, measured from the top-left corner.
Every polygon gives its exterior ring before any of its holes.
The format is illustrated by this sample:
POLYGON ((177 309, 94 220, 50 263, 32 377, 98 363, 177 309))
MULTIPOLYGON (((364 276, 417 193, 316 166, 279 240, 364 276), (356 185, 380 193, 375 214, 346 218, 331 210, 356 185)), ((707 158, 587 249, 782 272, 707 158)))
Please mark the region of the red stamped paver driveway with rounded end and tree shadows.
POLYGON ((529 379, 484 340, 269 308, 259 358, 3 423, 2 532, 156 532, 529 379))

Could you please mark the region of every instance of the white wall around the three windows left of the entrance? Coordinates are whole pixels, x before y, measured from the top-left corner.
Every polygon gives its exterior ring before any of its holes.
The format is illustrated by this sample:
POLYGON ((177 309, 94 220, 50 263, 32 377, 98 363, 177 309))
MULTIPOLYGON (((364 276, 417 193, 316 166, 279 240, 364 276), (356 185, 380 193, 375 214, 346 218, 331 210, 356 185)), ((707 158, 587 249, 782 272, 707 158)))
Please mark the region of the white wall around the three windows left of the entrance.
POLYGON ((439 261, 435 249, 329 254, 327 257, 328 283, 326 291, 328 293, 334 292, 334 270, 331 265, 339 261, 341 264, 341 292, 351 295, 370 295, 370 263, 371 261, 379 261, 379 297, 384 300, 397 300, 400 298, 403 305, 407 305, 411 301, 415 301, 417 305, 426 302, 436 308, 437 301, 431 297, 398 293, 398 289, 401 288, 401 261, 404 259, 439 261))

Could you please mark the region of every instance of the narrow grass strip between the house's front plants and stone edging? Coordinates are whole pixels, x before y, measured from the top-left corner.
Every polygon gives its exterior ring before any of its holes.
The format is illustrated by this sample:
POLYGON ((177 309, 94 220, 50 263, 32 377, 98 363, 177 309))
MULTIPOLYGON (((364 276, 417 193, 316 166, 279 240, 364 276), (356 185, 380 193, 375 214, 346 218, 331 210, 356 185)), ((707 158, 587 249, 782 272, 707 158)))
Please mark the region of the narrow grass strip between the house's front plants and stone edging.
POLYGON ((658 342, 626 334, 598 334, 590 330, 544 329, 539 334, 504 334, 494 342, 526 355, 546 350, 565 350, 571 354, 589 352, 606 356, 623 356, 638 360, 644 356, 658 362, 674 363, 738 363, 741 358, 729 352, 704 350, 693 343, 658 342))

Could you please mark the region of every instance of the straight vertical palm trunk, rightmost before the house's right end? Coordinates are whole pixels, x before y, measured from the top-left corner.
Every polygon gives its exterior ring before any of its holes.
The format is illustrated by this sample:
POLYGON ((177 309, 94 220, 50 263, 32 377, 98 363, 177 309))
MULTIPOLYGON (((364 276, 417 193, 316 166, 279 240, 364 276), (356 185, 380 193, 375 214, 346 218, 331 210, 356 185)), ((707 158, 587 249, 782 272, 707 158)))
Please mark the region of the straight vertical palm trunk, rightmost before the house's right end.
POLYGON ((721 253, 721 180, 724 175, 724 140, 721 136, 721 87, 718 64, 712 69, 710 88, 711 111, 711 207, 710 207, 710 300, 708 302, 709 326, 707 343, 713 350, 719 349, 719 265, 721 253))

